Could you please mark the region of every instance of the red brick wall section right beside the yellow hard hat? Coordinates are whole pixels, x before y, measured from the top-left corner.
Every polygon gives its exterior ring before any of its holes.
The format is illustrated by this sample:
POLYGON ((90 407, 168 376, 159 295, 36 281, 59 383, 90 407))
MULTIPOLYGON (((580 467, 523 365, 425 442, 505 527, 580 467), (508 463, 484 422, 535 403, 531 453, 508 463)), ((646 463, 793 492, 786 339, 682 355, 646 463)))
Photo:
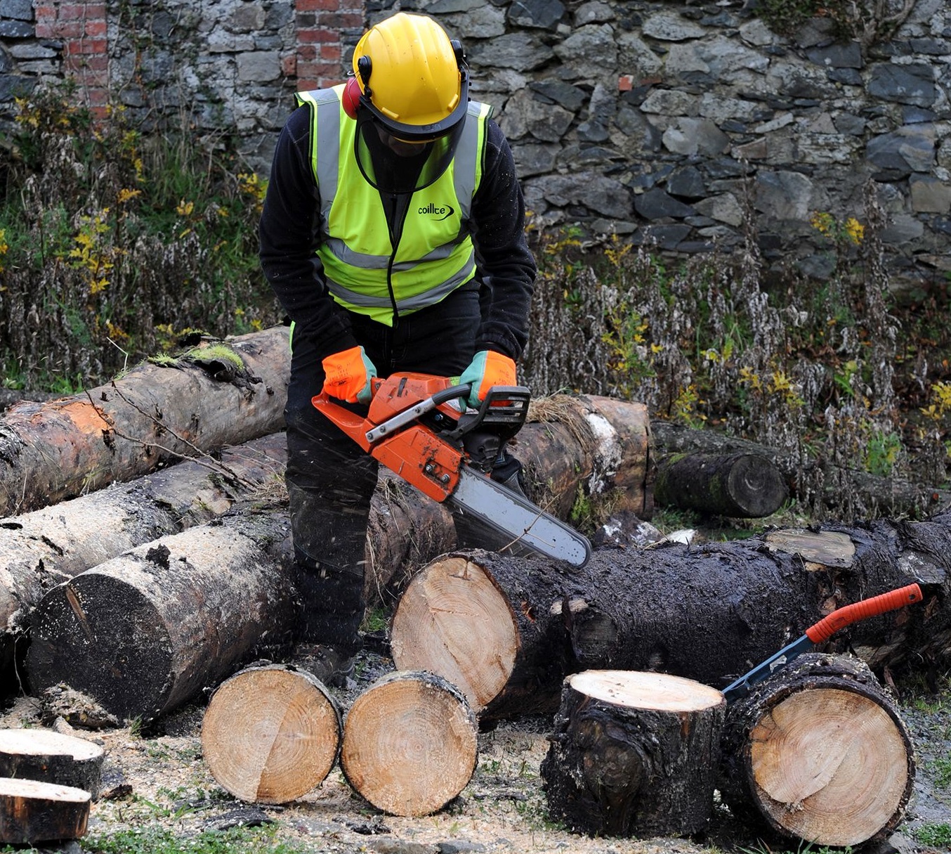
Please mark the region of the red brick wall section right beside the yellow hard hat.
POLYGON ((344 56, 353 47, 344 44, 342 34, 363 28, 362 0, 296 0, 295 12, 298 90, 342 83, 348 70, 344 56))

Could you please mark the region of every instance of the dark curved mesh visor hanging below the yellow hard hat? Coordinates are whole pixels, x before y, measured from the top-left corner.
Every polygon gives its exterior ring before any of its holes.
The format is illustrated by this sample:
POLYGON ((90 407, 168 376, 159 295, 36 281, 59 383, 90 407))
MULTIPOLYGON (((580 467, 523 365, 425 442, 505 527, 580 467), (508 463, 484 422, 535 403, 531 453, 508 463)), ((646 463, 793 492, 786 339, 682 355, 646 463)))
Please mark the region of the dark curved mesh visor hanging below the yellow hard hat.
POLYGON ((464 125, 463 116, 441 136, 408 142, 385 129, 368 109, 360 109, 354 142, 359 170, 380 192, 412 193, 429 187, 449 167, 464 125))

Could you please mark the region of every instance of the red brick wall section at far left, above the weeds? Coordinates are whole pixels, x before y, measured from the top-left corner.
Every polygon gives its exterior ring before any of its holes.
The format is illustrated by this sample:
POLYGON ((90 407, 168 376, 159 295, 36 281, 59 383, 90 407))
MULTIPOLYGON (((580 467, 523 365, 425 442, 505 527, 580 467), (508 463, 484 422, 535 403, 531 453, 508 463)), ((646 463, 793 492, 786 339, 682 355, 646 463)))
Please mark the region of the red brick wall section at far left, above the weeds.
POLYGON ((63 42, 64 73, 76 79, 87 107, 102 115, 108 103, 106 4, 47 0, 34 12, 36 37, 63 42))

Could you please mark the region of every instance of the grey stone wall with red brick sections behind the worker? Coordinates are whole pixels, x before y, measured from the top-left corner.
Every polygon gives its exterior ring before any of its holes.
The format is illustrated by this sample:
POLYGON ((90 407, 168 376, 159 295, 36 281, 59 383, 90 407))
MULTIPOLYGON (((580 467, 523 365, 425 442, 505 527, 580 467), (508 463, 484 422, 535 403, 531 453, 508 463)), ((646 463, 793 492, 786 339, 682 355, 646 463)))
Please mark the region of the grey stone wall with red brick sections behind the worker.
POLYGON ((870 46, 827 18, 777 35, 753 5, 0 0, 0 110, 40 76, 85 74, 90 105, 107 90, 146 127, 233 134, 264 173, 293 90, 339 81, 368 23, 424 10, 462 39, 540 225, 691 253, 739 243, 754 209, 771 263, 821 279, 810 217, 863 221, 871 180, 895 281, 947 287, 951 4, 917 0, 870 46))

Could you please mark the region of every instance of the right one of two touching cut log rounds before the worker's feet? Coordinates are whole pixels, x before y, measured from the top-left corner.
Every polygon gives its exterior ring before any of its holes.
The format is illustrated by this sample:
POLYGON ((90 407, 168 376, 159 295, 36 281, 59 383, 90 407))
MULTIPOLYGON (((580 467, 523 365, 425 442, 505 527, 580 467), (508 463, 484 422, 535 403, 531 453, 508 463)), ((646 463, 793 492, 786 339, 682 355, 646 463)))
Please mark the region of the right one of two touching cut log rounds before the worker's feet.
POLYGON ((478 725, 462 693, 440 676, 380 677, 347 713, 340 768, 370 804, 418 817, 448 804, 476 770, 478 725))

